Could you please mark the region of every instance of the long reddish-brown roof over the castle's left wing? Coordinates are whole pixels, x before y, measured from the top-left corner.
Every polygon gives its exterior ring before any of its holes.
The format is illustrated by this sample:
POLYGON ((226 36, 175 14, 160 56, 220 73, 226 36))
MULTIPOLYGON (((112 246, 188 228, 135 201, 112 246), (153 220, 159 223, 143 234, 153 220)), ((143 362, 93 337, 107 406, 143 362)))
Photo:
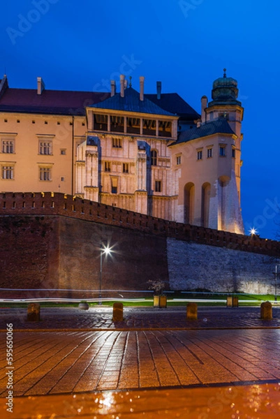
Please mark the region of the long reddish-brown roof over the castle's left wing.
POLYGON ((0 111, 54 115, 85 115, 85 107, 110 97, 108 92, 8 88, 0 98, 0 111))

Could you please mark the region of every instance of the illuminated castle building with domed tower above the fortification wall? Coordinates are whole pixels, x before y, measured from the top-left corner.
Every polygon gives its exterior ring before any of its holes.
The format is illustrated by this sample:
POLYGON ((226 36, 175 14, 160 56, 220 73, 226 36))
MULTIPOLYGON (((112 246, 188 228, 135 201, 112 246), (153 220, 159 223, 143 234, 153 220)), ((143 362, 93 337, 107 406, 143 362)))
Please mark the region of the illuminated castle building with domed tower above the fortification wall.
POLYGON ((243 233, 243 108, 214 81, 201 115, 178 94, 52 91, 0 82, 0 191, 60 191, 161 219, 243 233))

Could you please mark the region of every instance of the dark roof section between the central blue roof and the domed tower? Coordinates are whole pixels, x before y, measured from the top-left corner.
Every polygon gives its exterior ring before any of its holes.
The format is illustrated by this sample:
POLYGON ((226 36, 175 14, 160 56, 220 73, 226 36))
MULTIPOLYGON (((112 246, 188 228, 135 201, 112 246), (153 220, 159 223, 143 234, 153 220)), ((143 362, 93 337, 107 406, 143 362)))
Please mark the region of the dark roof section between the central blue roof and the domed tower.
POLYGON ((187 120, 193 121, 193 119, 200 118, 200 115, 196 110, 191 108, 189 103, 186 103, 184 99, 177 93, 163 93, 161 98, 157 98, 157 94, 145 94, 145 96, 160 108, 171 112, 172 114, 179 115, 187 120))

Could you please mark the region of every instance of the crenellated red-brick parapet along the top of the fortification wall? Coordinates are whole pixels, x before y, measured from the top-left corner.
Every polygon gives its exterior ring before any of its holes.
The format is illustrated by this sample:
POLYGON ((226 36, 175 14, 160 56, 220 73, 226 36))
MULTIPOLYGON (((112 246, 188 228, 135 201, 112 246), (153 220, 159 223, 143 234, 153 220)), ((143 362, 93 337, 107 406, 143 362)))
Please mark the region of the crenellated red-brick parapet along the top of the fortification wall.
POLYGON ((64 193, 0 193, 0 216, 66 216, 198 244, 280 256, 280 242, 276 240, 167 221, 64 193))

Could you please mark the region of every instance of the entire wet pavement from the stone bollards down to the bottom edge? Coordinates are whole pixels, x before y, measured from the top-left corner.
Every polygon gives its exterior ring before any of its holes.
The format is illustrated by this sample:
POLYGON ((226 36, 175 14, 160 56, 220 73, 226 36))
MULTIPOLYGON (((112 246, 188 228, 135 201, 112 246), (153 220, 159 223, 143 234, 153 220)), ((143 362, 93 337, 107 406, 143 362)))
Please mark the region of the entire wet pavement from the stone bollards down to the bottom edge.
POLYGON ((1 417, 277 418, 279 307, 273 317, 260 320, 260 307, 198 307, 192 321, 186 307, 124 307, 114 323, 112 307, 43 307, 40 322, 27 322, 24 309, 0 309, 1 417))

